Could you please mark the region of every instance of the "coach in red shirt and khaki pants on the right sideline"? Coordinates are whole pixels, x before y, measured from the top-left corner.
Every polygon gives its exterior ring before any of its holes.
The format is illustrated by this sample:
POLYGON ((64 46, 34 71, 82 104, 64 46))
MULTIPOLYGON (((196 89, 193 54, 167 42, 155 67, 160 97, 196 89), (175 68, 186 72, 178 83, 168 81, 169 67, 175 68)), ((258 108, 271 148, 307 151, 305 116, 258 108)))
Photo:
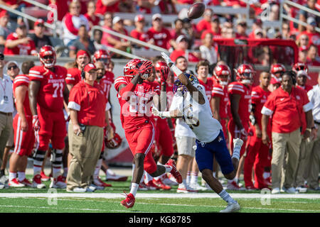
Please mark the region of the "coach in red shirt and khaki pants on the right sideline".
POLYGON ((313 105, 306 92, 294 87, 294 72, 284 72, 281 86, 272 92, 262 108, 262 143, 270 143, 267 135, 267 123, 272 116, 272 194, 280 192, 284 155, 287 152, 287 164, 284 175, 284 192, 296 193, 294 178, 299 162, 301 143, 300 127, 303 112, 306 118, 306 133, 309 138, 314 125, 312 117, 313 105), (287 148, 287 149, 286 149, 287 148))

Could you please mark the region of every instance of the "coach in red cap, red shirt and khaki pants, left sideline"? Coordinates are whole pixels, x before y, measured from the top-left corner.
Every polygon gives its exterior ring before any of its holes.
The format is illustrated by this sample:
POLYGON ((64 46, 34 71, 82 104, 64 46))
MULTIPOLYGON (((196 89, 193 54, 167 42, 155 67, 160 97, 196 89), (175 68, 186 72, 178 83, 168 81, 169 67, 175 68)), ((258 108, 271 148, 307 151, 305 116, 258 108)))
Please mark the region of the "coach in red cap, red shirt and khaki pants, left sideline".
POLYGON ((92 192, 89 188, 91 176, 103 143, 107 101, 102 87, 95 82, 95 65, 85 65, 81 77, 81 82, 71 89, 68 103, 68 137, 72 159, 67 175, 67 192, 92 192))

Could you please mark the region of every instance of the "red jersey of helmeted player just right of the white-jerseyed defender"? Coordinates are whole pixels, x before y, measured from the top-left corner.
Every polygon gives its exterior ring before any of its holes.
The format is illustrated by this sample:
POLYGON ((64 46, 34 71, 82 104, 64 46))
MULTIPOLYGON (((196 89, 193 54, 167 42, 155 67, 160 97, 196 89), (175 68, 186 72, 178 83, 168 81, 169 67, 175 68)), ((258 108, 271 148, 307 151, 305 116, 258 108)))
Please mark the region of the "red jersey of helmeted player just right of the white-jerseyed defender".
POLYGON ((247 123, 250 116, 251 87, 247 87, 241 82, 232 82, 228 85, 228 93, 229 96, 230 94, 240 94, 238 114, 242 124, 247 123))

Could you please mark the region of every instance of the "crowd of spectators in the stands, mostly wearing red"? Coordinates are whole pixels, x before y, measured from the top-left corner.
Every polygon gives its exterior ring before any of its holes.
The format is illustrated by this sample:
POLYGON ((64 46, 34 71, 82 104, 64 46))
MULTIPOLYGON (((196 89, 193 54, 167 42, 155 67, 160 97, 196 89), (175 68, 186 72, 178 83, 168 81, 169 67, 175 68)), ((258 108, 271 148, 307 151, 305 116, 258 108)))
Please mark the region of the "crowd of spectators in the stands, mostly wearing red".
MULTIPOLYGON (((145 48, 124 38, 119 38, 107 32, 91 31, 93 26, 102 26, 103 28, 115 31, 123 35, 130 35, 146 43, 166 48, 170 52, 185 54, 191 62, 199 60, 208 60, 213 64, 219 60, 218 48, 214 41, 209 38, 279 38, 283 40, 296 40, 299 47, 299 61, 307 65, 319 66, 319 48, 320 35, 316 32, 319 28, 320 18, 307 11, 299 10, 287 4, 284 4, 284 13, 293 18, 299 19, 307 26, 298 25, 292 21, 284 21, 282 28, 274 33, 268 33, 266 28, 262 27, 263 21, 279 20, 279 1, 252 1, 250 5, 251 18, 254 18, 252 25, 247 24, 247 20, 239 15, 220 15, 207 8, 200 21, 194 23, 186 17, 182 11, 176 10, 176 4, 193 4, 197 1, 184 0, 73 0, 73 1, 55 1, 50 0, 50 6, 58 10, 58 20, 62 21, 63 33, 60 38, 63 44, 68 48, 68 55, 75 56, 79 49, 87 50, 93 53, 97 48, 112 47, 124 52, 132 52, 132 48, 145 48), (124 20, 119 16, 114 16, 117 12, 137 13, 137 16, 130 20, 124 20), (252 13, 253 12, 253 13, 252 13), (141 14, 138 14, 141 13, 141 14), (151 21, 146 21, 144 15, 152 14, 151 21), (171 23, 164 23, 162 16, 164 14, 176 15, 177 18, 171 23), (210 33, 211 35, 207 35, 210 33), (271 35, 270 35, 271 34, 271 35), (273 35, 272 35, 273 34, 273 35), (188 45, 181 45, 181 35, 184 35, 182 41, 188 45), (180 37, 180 38, 179 38, 180 37), (104 47, 104 45, 106 47, 104 47), (181 46, 183 46, 181 48, 181 46), (185 47, 184 47, 185 46, 185 47), (206 48, 205 48, 206 47, 206 48), (314 48, 318 51, 314 53, 314 48), (186 51, 187 54, 186 54, 186 51)), ((203 1, 207 6, 232 6, 245 7, 242 1, 203 1)), ((31 6, 20 1, 0 0, 0 4, 17 9, 31 6)), ((320 4, 316 0, 299 0, 297 4, 302 4, 309 9, 319 11, 320 4)), ((188 5, 186 5, 188 7, 188 5)), ((43 18, 44 21, 36 21, 30 27, 26 25, 26 31, 10 31, 8 23, 11 20, 17 21, 17 27, 21 27, 21 18, 14 16, 14 13, 0 12, 0 49, 6 52, 4 54, 27 54, 34 55, 33 44, 37 51, 44 44, 50 45, 48 35, 52 31, 44 27, 44 22, 52 23, 50 18, 43 18), (26 33, 27 35, 24 35, 26 33), (10 36, 9 36, 10 35, 10 36), (12 42, 5 42, 9 36, 12 42), (26 37, 25 37, 26 36, 26 37), (30 40, 28 40, 29 38, 30 40), (33 41, 33 43, 31 42, 33 41), (16 47, 19 48, 16 48, 16 47), (20 46, 22 48, 20 48, 20 46), (15 51, 20 50, 19 52, 15 51)), ((22 25, 23 26, 23 25, 22 25)), ((24 28, 23 28, 24 29, 24 28)), ((22 30, 23 30, 22 29, 22 30)), ((12 30, 12 28, 11 28, 12 30)), ((182 42, 183 43, 183 42, 182 42)), ((176 55, 176 53, 174 53, 176 55)), ((261 55, 263 56, 263 55, 261 55)), ((112 57, 121 57, 114 55, 112 57)))

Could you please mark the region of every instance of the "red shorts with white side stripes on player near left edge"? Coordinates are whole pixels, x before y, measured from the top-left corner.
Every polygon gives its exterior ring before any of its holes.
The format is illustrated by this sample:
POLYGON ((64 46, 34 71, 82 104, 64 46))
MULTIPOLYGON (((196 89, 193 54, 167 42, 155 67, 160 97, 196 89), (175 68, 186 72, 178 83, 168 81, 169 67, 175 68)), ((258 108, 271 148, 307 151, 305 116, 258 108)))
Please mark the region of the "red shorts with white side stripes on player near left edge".
POLYGON ((14 117, 14 153, 17 155, 29 156, 33 150, 35 142, 34 132, 32 128, 32 117, 26 116, 28 122, 28 131, 21 131, 21 118, 18 114, 14 117))

